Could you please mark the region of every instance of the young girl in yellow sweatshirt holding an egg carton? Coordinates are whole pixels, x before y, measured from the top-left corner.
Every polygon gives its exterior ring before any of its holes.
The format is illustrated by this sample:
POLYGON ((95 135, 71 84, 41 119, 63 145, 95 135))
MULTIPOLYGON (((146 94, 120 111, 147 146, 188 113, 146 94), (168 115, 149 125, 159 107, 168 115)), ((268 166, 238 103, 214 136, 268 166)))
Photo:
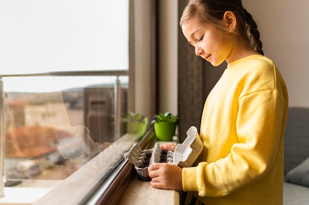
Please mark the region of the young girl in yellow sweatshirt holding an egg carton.
POLYGON ((151 185, 188 191, 186 203, 282 205, 288 94, 256 23, 241 0, 190 0, 180 26, 196 55, 228 67, 206 99, 194 167, 153 164, 151 185))

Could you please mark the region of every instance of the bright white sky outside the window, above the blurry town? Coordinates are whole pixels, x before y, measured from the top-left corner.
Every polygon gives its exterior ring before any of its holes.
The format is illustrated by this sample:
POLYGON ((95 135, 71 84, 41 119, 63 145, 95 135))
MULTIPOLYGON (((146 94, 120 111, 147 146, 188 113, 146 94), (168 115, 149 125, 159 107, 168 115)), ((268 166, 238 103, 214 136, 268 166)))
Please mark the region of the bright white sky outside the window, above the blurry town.
MULTIPOLYGON (((128 69, 128 0, 0 0, 0 74, 111 69, 128 69)), ((59 90, 108 78, 29 79, 5 78, 4 90, 59 90)))

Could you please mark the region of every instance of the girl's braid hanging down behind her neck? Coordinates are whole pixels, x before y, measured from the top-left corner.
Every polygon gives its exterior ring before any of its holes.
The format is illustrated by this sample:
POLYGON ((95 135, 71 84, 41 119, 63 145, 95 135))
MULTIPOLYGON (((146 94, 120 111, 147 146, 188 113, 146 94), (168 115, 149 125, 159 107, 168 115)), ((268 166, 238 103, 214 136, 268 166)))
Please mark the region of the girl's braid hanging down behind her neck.
POLYGON ((252 15, 244 9, 246 17, 246 29, 247 29, 247 38, 249 44, 254 50, 259 52, 261 55, 264 55, 262 50, 262 41, 260 40, 260 32, 258 31, 258 26, 252 18, 252 15))

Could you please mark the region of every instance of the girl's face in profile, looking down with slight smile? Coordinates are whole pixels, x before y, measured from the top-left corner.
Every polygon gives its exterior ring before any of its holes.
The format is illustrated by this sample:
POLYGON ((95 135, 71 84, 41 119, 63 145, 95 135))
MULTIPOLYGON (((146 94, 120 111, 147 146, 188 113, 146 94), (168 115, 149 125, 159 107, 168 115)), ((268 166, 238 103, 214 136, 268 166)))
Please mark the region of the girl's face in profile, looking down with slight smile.
POLYGON ((232 52, 232 41, 228 31, 219 31, 211 23, 190 21, 182 26, 182 31, 190 44, 195 47, 195 54, 219 66, 228 59, 232 52))

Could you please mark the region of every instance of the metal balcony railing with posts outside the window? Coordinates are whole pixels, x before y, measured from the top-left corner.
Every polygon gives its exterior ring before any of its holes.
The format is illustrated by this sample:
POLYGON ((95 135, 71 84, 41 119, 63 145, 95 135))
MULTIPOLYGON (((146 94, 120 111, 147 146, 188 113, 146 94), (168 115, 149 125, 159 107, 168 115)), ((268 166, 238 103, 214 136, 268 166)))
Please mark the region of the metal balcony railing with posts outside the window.
POLYGON ((5 158, 5 127, 4 127, 4 83, 3 77, 27 77, 27 76, 116 76, 116 82, 114 87, 114 114, 115 114, 115 138, 119 137, 119 87, 120 80, 119 76, 127 76, 128 70, 91 70, 91 71, 56 71, 46 73, 30 73, 30 74, 3 74, 0 75, 0 197, 4 197, 4 158, 5 158))

